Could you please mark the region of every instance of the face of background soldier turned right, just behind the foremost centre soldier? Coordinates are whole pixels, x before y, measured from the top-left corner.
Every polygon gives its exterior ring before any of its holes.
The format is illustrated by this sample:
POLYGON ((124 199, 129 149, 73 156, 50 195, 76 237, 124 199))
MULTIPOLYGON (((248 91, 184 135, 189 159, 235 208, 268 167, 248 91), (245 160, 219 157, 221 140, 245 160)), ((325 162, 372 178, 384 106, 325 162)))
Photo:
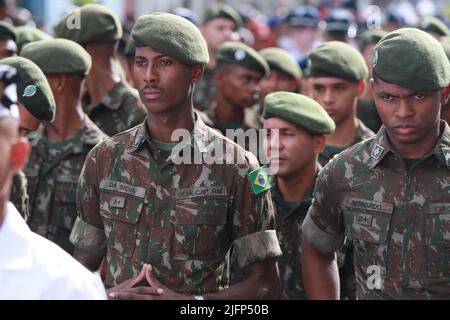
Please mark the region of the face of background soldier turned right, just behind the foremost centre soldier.
POLYGON ((262 74, 233 65, 216 72, 217 91, 232 105, 249 108, 259 100, 262 74))

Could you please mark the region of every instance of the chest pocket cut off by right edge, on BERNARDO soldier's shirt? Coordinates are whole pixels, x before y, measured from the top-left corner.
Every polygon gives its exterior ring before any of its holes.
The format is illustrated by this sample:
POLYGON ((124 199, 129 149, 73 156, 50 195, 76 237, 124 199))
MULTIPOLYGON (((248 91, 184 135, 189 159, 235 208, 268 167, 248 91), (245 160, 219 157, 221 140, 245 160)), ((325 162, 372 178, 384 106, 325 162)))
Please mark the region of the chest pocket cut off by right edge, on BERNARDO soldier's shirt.
POLYGON ((450 278, 450 203, 432 203, 425 212, 427 272, 450 278))

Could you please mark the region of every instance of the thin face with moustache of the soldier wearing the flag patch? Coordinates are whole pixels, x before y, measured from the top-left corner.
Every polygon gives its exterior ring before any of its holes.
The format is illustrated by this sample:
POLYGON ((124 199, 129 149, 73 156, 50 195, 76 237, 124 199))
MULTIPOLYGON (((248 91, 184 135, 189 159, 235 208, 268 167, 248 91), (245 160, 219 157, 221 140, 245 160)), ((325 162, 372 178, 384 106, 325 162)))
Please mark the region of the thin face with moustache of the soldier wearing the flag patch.
POLYGON ((159 113, 189 105, 194 83, 200 80, 203 70, 152 48, 138 47, 134 74, 145 107, 159 113))

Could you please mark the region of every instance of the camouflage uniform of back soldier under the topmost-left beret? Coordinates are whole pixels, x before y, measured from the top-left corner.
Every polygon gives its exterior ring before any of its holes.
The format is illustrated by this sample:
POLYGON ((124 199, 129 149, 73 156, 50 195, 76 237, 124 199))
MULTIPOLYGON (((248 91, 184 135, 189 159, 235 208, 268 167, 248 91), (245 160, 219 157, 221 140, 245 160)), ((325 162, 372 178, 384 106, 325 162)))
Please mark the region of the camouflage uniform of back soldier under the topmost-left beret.
POLYGON ((113 136, 141 123, 147 113, 136 90, 117 83, 96 106, 89 106, 89 95, 83 98, 83 109, 107 135, 113 136))

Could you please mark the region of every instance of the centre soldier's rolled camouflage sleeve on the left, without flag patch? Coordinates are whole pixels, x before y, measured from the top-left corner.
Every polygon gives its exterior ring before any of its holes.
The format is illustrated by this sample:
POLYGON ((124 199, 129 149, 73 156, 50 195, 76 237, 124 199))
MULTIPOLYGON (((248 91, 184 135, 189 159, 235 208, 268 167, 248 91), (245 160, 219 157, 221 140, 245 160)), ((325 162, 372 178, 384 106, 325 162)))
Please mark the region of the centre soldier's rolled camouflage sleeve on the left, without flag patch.
POLYGON ((70 241, 76 248, 101 257, 106 253, 106 236, 100 216, 97 180, 98 147, 88 154, 78 181, 78 218, 72 228, 70 241))

